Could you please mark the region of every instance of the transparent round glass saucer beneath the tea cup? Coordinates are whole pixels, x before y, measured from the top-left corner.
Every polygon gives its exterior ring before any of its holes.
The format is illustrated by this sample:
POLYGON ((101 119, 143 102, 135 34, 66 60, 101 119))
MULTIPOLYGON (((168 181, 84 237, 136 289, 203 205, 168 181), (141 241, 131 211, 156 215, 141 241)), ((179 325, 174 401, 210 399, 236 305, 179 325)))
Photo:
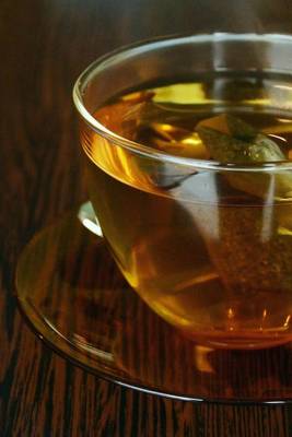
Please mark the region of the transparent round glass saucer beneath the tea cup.
POLYGON ((36 235, 17 265, 20 308, 50 347, 100 377, 168 398, 292 401, 291 343, 245 352, 185 339, 130 288, 77 214, 36 235))

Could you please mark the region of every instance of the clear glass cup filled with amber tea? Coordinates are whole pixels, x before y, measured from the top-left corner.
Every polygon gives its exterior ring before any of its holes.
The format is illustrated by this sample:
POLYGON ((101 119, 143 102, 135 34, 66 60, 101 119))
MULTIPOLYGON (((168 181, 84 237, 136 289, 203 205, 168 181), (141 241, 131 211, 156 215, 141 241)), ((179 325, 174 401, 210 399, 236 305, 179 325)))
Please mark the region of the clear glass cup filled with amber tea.
POLYGON ((249 117, 289 118, 291 71, 290 36, 192 35, 121 48, 74 85, 89 197, 105 243, 144 302, 198 343, 260 349, 292 340, 292 163, 175 156, 120 137, 94 114, 128 90, 215 76, 209 111, 242 105, 249 117), (232 79, 232 94, 222 78, 232 79), (245 78, 257 84, 252 92, 245 78), (236 196, 226 181, 240 187, 236 196))

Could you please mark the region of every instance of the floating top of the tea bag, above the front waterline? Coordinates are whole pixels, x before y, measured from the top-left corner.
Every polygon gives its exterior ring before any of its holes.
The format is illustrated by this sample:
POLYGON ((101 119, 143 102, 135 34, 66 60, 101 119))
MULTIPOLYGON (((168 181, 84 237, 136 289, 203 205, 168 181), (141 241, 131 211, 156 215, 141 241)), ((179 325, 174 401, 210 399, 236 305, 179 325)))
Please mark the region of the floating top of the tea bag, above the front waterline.
POLYGON ((226 173, 229 182, 236 189, 266 199, 272 185, 273 199, 292 200, 292 173, 254 172, 253 165, 285 161, 279 145, 269 137, 231 115, 221 115, 198 123, 197 132, 211 157, 220 163, 249 166, 246 172, 226 173))

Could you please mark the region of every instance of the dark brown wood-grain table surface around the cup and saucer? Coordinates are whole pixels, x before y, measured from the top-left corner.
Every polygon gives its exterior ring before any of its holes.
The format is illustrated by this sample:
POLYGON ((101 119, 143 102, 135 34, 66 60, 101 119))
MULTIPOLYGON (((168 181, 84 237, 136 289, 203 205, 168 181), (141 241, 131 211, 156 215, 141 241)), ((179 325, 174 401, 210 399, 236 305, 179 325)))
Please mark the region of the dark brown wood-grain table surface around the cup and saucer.
POLYGON ((75 76, 122 44, 210 31, 292 33, 292 4, 1 0, 1 437, 292 435, 287 405, 192 404, 102 381, 44 346, 15 305, 21 250, 37 231, 86 198, 71 103, 75 76))

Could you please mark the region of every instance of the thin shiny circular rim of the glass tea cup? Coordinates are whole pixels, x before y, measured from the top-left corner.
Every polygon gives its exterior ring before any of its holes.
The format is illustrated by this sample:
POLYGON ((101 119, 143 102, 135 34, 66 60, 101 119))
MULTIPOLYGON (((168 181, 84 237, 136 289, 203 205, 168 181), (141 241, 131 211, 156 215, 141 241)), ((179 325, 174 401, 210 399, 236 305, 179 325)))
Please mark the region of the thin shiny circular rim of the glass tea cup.
MULTIPOLYGON (((230 33, 230 32, 214 32, 210 34, 175 34, 166 35, 163 37, 154 37, 136 43, 124 45, 115 50, 112 50, 92 63, 90 63, 78 76, 72 90, 72 98, 74 107, 79 116, 85 121, 85 123, 94 130, 96 133, 110 141, 112 143, 131 151, 135 154, 153 158, 155 161, 163 161, 165 163, 192 167, 201 170, 224 170, 224 172, 265 172, 273 173, 275 170, 288 170, 292 169, 292 162, 279 161, 269 163, 257 163, 257 164, 232 164, 221 163, 209 160, 197 160, 192 157, 184 157, 171 155, 166 152, 157 151, 145 144, 138 143, 129 140, 118 133, 107 129, 104 125, 97 121, 92 114, 86 109, 83 99, 83 88, 91 78, 95 76, 96 70, 102 70, 103 67, 108 66, 114 60, 120 58, 126 59, 128 56, 135 52, 148 51, 151 47, 167 47, 171 45, 178 45, 184 43, 218 43, 218 42, 254 42, 254 43, 285 43, 292 45, 292 35, 290 34, 278 34, 278 33, 230 33)), ((292 67, 291 67, 292 71, 292 67)))

